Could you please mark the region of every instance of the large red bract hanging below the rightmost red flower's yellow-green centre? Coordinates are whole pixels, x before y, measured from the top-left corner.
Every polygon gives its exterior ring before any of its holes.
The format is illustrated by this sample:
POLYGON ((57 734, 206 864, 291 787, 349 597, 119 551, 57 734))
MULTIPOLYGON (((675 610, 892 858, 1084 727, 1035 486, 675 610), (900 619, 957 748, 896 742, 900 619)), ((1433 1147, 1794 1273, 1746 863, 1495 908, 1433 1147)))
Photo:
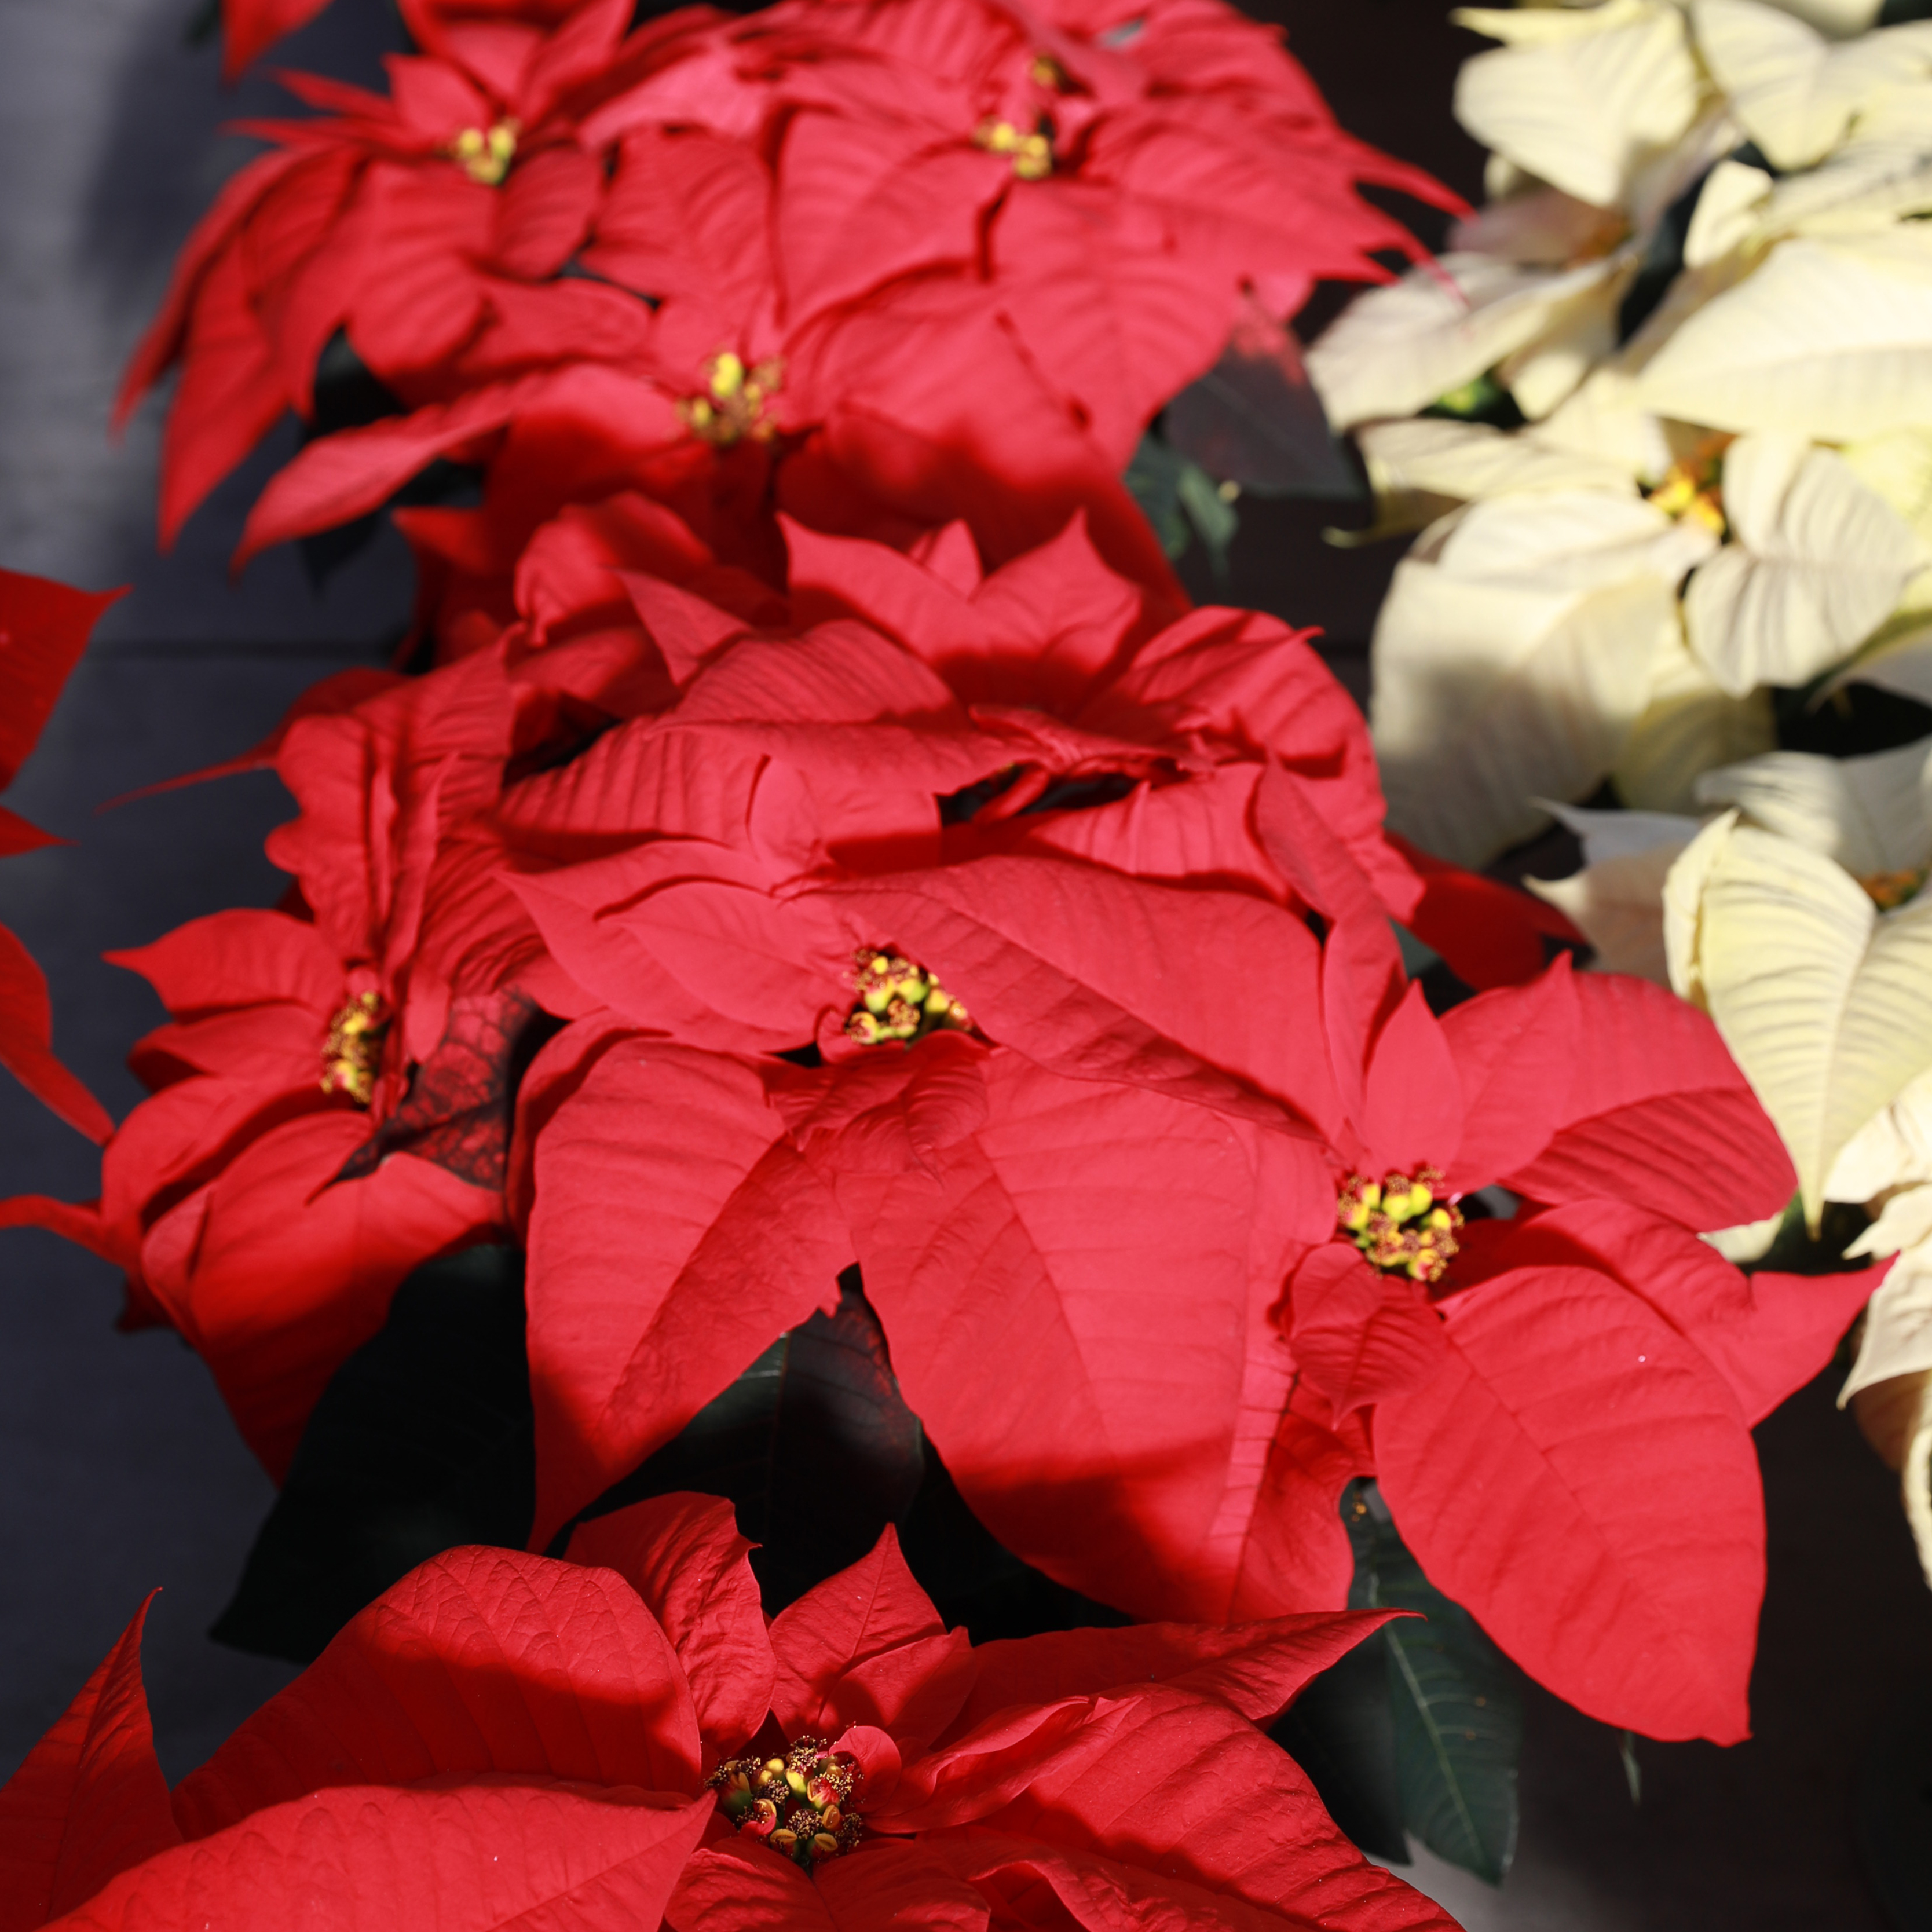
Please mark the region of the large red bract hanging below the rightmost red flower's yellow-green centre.
POLYGON ((1764 1499, 1729 1387, 1592 1269, 1515 1269, 1443 1316, 1443 1372, 1376 1412, 1430 1580, 1604 1723, 1747 1737, 1764 1499))

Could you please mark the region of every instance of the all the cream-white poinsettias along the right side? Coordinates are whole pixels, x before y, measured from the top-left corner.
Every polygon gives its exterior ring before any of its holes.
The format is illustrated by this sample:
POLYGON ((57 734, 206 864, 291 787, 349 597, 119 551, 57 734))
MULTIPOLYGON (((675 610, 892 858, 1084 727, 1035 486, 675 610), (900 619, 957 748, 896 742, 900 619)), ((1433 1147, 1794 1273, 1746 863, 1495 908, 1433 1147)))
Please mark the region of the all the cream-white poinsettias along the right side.
MULTIPOLYGON (((1776 750, 1847 684, 1932 701, 1932 21, 1878 0, 1464 10, 1492 149, 1451 253, 1310 373, 1379 527, 1391 821, 1544 887, 1718 1022, 1799 1173, 1895 1254, 1845 1397, 1932 1577, 1932 740, 1776 750), (1625 810, 1577 810, 1611 781, 1625 810)), ((1737 1258, 1770 1227, 1735 1231, 1737 1258)))

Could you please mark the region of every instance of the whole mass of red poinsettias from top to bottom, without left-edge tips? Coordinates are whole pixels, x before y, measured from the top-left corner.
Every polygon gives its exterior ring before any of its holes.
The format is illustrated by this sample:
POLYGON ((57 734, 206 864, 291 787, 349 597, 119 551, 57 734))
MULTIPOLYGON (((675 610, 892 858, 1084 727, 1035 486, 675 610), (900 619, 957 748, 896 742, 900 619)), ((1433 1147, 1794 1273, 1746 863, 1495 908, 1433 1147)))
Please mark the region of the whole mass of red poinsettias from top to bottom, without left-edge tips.
POLYGON ((1387 835, 1306 636, 1190 609, 1119 481, 1403 242, 1356 182, 1439 191, 1221 0, 630 12, 408 0, 390 95, 294 79, 193 238, 129 375, 182 363, 166 531, 338 338, 396 410, 245 547, 439 456, 483 500, 396 512, 413 672, 238 761, 284 902, 118 954, 172 1018, 100 1200, 0 1219, 118 1262, 276 1476, 413 1267, 518 1242, 533 1549, 856 1264, 974 1515, 1188 1627, 970 1650, 889 1540, 767 1633, 651 1505, 576 1530, 622 1582, 417 1573, 172 1801, 129 1633, 0 1866, 89 1926, 325 1874, 342 1926, 1441 1924, 1252 1723, 1370 1627, 1345 1486, 1582 1710, 1739 1739, 1748 1430, 1870 1275, 1698 1238, 1793 1190, 1710 1022, 1387 835))

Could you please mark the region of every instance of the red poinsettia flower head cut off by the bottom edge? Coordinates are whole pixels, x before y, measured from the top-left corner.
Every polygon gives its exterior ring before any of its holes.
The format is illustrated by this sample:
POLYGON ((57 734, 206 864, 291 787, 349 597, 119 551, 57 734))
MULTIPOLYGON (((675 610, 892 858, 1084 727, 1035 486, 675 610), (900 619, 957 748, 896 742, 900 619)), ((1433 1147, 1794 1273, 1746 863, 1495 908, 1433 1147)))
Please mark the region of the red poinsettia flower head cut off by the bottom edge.
POLYGON ((728 1505, 676 1495, 580 1530, 576 1561, 437 1557, 172 1806, 137 1619, 0 1793, 8 1932, 298 1911, 317 1932, 558 1911, 587 1932, 1107 1932, 1122 1899, 1256 1932, 1451 1932, 1254 1729, 1381 1613, 976 1650, 887 1530, 767 1631, 748 1548, 728 1505))

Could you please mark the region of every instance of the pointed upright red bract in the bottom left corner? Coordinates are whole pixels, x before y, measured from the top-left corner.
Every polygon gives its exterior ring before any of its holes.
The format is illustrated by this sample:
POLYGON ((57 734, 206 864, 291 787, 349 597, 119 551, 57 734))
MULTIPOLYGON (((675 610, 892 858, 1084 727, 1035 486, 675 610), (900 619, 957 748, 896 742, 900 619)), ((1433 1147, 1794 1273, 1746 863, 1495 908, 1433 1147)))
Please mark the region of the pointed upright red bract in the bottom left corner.
POLYGON ((141 1687, 155 1596, 0 1789, 0 1932, 33 1932, 182 1841, 141 1687))

